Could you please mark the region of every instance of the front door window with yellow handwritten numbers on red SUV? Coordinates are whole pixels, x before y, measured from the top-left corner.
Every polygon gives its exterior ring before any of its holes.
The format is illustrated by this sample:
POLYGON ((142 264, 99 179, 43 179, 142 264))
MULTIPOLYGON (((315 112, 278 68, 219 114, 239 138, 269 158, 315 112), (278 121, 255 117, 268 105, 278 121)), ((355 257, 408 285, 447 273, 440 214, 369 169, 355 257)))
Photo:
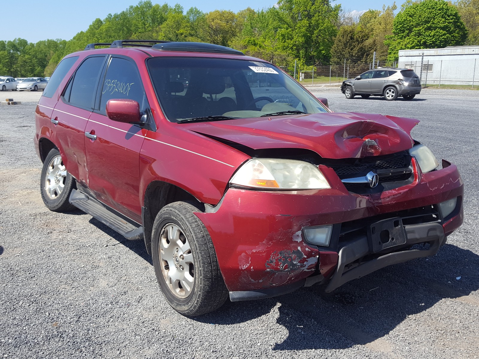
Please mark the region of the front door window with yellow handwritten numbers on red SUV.
POLYGON ((106 102, 112 99, 130 99, 143 102, 143 85, 134 62, 112 57, 103 80, 100 112, 106 113, 106 102))

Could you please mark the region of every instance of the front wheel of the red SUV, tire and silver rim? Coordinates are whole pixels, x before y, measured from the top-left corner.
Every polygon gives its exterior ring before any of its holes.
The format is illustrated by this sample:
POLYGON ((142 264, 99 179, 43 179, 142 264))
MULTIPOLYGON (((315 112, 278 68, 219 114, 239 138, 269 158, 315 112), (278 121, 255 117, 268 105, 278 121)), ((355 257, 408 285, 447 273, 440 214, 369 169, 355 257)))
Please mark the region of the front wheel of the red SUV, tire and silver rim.
POLYGON ((178 313, 197 316, 217 310, 228 298, 213 242, 193 203, 174 202, 156 216, 151 251, 166 301, 178 313))

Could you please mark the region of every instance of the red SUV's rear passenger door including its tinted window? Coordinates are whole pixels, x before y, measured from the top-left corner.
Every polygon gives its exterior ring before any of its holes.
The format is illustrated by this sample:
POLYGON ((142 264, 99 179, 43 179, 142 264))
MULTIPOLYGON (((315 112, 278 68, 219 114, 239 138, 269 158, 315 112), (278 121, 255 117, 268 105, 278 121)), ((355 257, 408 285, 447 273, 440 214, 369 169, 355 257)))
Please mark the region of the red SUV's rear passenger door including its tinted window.
POLYGON ((52 113, 55 143, 59 146, 68 172, 87 185, 85 128, 93 110, 105 55, 83 60, 68 82, 52 113))

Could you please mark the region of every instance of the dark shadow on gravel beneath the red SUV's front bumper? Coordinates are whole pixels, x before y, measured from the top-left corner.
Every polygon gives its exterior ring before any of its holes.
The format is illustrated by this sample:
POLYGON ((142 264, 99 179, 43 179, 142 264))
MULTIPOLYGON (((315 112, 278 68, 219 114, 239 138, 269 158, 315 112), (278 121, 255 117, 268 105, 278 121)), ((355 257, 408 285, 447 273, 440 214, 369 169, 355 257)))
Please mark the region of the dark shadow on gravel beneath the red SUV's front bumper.
POLYGON ((273 350, 366 345, 445 298, 479 305, 478 298, 463 297, 479 289, 479 256, 446 244, 431 258, 380 269, 332 293, 324 289, 313 286, 260 301, 228 301, 217 311, 193 319, 217 325, 243 323, 269 313, 279 303, 276 321, 288 335, 281 342, 262 343, 273 350))

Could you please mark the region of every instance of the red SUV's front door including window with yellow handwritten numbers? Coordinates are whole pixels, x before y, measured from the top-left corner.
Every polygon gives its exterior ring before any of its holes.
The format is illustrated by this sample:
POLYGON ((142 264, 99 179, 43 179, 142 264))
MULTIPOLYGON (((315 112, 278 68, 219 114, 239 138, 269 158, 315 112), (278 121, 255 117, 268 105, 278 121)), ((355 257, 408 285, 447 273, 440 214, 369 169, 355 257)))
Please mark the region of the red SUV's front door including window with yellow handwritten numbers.
POLYGON ((91 135, 85 138, 85 147, 90 190, 103 203, 141 223, 139 153, 148 130, 110 120, 105 108, 112 99, 135 100, 141 112, 149 113, 137 65, 129 57, 114 55, 108 61, 98 105, 85 130, 91 135))

